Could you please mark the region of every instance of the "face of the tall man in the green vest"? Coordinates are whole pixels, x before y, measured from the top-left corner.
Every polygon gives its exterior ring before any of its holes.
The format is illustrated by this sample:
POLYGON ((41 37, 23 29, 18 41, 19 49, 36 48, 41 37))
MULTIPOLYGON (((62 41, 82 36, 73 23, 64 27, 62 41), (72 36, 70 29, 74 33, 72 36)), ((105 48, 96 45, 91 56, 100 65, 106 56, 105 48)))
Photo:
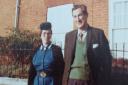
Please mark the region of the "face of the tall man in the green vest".
POLYGON ((73 10, 73 20, 77 28, 83 29, 87 24, 87 14, 83 14, 81 8, 73 10))

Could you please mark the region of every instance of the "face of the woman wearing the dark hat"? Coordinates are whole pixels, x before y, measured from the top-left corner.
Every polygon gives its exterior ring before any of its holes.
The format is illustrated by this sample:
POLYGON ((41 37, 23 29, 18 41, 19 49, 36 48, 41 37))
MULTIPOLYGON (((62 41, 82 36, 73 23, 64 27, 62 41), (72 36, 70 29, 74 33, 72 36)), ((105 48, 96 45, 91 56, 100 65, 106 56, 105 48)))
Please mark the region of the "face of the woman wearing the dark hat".
POLYGON ((41 39, 44 44, 51 42, 52 32, 51 30, 42 30, 41 39))

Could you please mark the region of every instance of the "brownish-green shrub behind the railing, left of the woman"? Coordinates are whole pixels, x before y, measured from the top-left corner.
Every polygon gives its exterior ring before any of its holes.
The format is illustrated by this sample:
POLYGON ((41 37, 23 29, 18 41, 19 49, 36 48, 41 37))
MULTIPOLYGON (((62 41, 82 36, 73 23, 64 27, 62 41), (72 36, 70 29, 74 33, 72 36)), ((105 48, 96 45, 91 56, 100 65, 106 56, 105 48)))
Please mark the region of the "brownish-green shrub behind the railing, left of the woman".
POLYGON ((30 31, 12 32, 0 38, 0 75, 27 77, 30 57, 40 37, 30 31))

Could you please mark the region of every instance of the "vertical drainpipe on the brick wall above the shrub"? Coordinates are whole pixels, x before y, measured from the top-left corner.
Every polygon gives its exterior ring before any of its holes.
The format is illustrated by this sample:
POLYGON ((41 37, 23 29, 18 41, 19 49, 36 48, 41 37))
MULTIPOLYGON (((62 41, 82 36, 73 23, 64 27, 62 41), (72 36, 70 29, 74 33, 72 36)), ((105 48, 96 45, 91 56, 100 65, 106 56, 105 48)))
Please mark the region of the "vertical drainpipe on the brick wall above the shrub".
POLYGON ((21 0, 16 0, 14 33, 19 30, 20 1, 21 0))

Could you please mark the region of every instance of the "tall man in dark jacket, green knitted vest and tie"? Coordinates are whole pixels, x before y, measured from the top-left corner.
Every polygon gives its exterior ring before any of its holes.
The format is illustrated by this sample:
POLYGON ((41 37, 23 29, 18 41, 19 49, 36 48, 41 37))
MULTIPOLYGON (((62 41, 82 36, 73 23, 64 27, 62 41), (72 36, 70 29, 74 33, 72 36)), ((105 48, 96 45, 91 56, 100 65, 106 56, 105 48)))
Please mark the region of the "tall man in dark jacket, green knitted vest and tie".
POLYGON ((74 5, 72 16, 77 30, 65 37, 63 85, 110 85, 112 56, 104 32, 88 25, 85 5, 74 5))

